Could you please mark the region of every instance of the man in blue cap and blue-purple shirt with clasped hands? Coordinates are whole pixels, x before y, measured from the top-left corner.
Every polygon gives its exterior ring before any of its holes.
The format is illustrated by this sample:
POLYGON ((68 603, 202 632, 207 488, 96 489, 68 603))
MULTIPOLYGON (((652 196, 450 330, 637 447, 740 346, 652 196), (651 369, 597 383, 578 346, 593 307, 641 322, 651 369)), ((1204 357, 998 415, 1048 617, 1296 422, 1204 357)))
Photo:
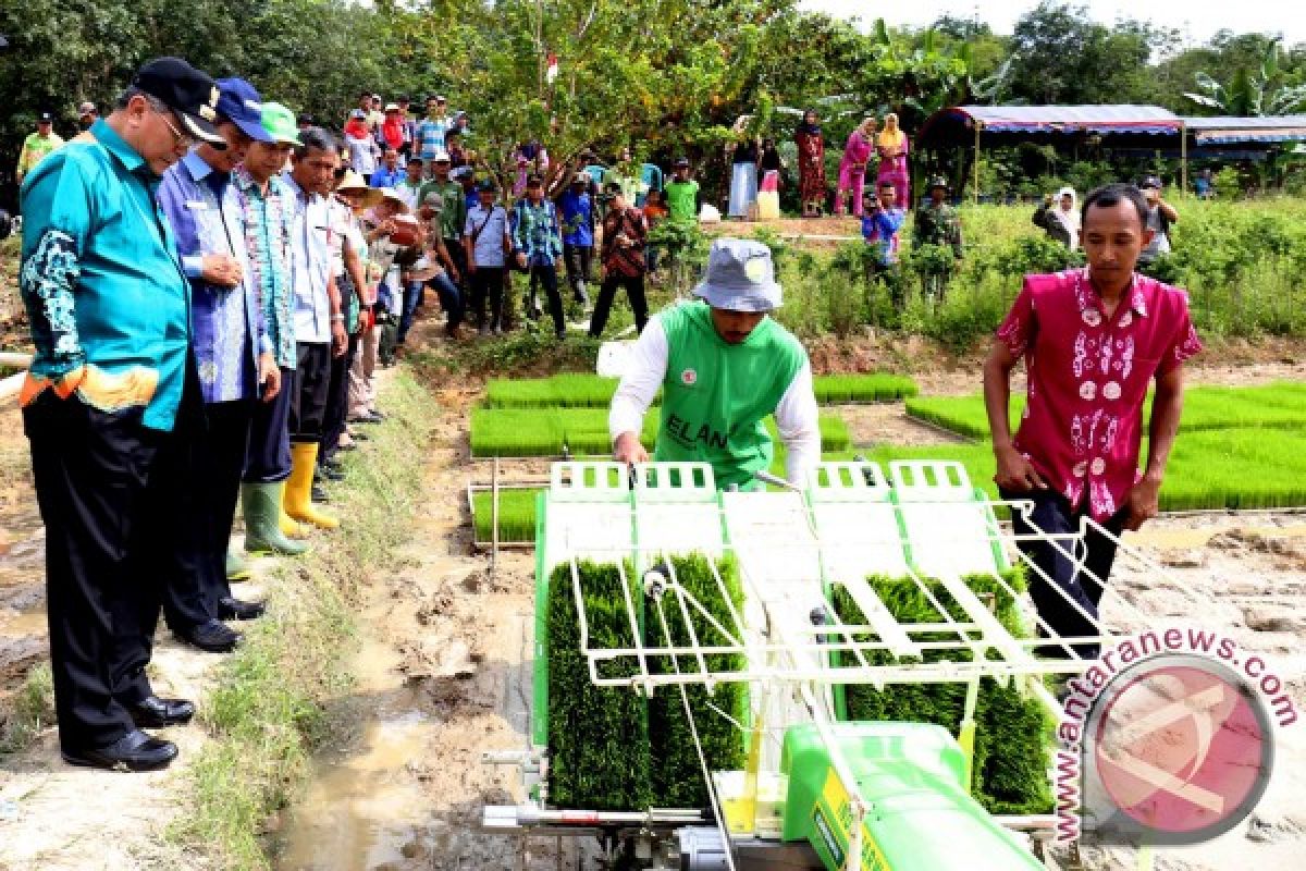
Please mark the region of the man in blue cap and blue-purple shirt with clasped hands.
POLYGON ((187 486, 196 494, 192 516, 200 542, 200 571, 168 578, 163 615, 182 639, 210 650, 230 650, 239 636, 218 620, 248 620, 263 605, 231 595, 227 543, 235 518, 249 422, 260 387, 264 400, 281 383, 264 325, 259 289, 246 282, 249 252, 243 209, 231 171, 255 141, 272 137, 259 123, 261 98, 240 78, 218 82, 218 149, 201 142, 163 175, 159 205, 176 234, 182 266, 191 279, 192 347, 208 427, 193 445, 187 486))

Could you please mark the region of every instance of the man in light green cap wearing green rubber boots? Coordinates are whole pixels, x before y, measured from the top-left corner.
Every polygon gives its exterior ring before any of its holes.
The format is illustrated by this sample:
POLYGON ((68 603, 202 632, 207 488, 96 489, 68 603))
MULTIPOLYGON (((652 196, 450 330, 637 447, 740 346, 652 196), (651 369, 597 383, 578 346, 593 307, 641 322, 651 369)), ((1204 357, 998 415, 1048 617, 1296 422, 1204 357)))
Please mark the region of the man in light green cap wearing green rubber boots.
POLYGON ((246 282, 259 290, 264 325, 281 370, 281 389, 270 402, 259 402, 249 427, 240 504, 246 520, 246 550, 295 555, 304 545, 299 524, 281 512, 282 490, 290 477, 290 397, 295 392, 294 291, 290 283, 291 200, 281 180, 290 150, 299 145, 294 114, 279 103, 264 103, 260 124, 270 142, 253 142, 232 183, 246 225, 246 282))

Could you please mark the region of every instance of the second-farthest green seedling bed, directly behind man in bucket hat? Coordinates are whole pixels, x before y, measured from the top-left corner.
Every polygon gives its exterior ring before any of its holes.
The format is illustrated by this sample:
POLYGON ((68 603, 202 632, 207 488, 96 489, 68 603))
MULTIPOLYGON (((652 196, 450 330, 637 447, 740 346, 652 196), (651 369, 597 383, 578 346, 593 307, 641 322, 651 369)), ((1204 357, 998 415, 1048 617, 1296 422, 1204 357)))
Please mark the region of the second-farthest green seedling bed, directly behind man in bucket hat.
MULTIPOLYGON (((644 417, 641 439, 657 437, 658 410, 644 417)), ((848 426, 835 414, 820 415, 821 451, 846 451, 852 444, 848 426)), ((776 437, 774 420, 767 420, 776 437)), ((471 411, 473 457, 556 457, 565 447, 575 457, 606 457, 613 451, 607 410, 590 407, 474 409, 471 411)))

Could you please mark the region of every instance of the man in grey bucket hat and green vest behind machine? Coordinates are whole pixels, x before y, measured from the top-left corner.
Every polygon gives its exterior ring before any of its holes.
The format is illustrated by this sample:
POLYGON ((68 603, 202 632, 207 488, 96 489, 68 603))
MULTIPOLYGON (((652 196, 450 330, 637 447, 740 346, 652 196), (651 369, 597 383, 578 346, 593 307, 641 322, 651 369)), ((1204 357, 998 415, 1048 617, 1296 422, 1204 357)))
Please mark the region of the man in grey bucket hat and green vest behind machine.
POLYGON ((763 424, 774 414, 785 477, 801 483, 820 460, 816 397, 803 346, 768 317, 781 303, 771 249, 717 239, 695 294, 649 320, 635 343, 609 414, 616 460, 649 458, 640 431, 662 388, 654 460, 709 462, 718 487, 754 487, 774 456, 763 424))

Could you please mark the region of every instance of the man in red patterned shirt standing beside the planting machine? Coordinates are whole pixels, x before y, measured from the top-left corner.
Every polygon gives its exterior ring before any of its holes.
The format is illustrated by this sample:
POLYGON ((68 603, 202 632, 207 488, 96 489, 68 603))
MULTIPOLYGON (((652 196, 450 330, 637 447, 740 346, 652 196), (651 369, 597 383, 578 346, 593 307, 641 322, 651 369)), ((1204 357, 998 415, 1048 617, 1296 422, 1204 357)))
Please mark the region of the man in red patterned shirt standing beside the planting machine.
MULTIPOLYGON (((1006 499, 1033 568, 1029 593, 1040 633, 1101 635, 1097 605, 1115 559, 1115 535, 1157 513, 1183 410, 1183 360, 1202 350, 1182 290, 1134 272, 1152 238, 1138 188, 1111 184, 1083 206, 1087 269, 1027 276, 983 367, 985 405, 1006 499), (1020 358, 1029 392, 1020 430, 1008 424, 1011 371, 1020 358), (1147 469, 1138 469, 1143 402, 1156 397, 1147 469), (1070 535, 1088 524, 1077 548, 1070 535), (1102 531, 1106 530, 1106 533, 1102 531), (1109 533, 1109 534, 1107 534, 1109 533), (1042 577, 1046 575, 1046 578, 1042 577), (1049 584, 1049 580, 1051 581, 1049 584)), ((1096 644, 1045 645, 1043 656, 1097 656, 1096 644)))

